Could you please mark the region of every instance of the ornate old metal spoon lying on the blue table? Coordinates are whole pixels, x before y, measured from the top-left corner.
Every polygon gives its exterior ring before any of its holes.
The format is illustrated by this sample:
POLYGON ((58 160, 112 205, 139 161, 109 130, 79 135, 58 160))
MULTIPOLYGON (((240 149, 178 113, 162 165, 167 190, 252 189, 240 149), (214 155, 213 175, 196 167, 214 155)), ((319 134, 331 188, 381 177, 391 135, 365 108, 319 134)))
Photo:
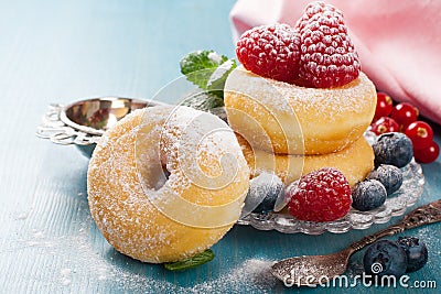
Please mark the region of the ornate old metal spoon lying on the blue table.
POLYGON ((284 259, 275 263, 270 272, 287 286, 326 283, 346 271, 348 259, 354 252, 377 239, 438 221, 441 221, 441 199, 413 209, 400 222, 366 236, 342 251, 326 255, 284 259))

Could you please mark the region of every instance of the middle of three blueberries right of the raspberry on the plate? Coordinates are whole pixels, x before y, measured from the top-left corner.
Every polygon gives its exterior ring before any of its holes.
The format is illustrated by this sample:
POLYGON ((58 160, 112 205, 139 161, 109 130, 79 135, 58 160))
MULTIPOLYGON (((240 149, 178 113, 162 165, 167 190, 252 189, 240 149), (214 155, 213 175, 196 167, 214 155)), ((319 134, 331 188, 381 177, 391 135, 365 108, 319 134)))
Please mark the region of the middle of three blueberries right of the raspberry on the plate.
POLYGON ((367 178, 380 182, 385 186, 387 195, 390 195, 401 187, 402 172, 397 166, 380 164, 367 175, 367 178))

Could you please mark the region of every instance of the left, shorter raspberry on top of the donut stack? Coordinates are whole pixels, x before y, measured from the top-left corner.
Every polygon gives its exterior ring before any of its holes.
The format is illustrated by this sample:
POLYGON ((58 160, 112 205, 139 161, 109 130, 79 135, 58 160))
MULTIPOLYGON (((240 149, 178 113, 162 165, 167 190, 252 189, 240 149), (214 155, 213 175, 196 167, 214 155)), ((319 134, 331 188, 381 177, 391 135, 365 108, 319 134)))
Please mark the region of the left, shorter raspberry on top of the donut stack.
POLYGON ((246 31, 237 42, 236 54, 248 70, 293 84, 299 78, 299 33, 277 23, 246 31))

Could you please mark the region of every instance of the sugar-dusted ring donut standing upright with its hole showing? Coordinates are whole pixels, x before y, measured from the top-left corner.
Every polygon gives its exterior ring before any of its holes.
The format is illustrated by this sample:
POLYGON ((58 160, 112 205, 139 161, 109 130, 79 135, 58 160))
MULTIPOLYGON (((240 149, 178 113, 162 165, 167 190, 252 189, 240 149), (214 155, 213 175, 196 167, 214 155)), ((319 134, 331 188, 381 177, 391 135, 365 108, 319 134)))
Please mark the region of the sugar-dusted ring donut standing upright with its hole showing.
POLYGON ((237 221, 249 168, 217 117, 189 107, 133 111, 97 144, 87 173, 90 214, 133 259, 171 262, 217 242, 237 221))

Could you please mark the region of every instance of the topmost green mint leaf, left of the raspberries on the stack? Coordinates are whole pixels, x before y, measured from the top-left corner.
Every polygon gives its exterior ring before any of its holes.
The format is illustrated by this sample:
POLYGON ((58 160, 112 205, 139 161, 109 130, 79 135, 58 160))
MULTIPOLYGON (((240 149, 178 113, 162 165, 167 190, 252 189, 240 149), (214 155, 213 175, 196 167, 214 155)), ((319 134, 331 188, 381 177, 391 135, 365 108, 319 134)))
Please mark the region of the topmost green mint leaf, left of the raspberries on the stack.
POLYGON ((203 90, 224 98, 225 80, 236 67, 236 62, 214 51, 195 51, 185 55, 180 65, 181 73, 187 80, 203 90))

